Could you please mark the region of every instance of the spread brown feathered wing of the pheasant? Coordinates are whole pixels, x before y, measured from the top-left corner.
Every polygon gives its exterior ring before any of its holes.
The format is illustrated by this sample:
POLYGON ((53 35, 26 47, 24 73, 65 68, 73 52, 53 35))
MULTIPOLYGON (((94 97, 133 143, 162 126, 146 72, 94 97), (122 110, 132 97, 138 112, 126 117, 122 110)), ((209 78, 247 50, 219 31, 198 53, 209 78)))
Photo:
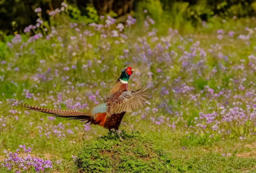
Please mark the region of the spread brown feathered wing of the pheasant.
POLYGON ((144 85, 138 90, 117 92, 116 95, 107 101, 107 116, 121 112, 131 112, 141 105, 145 106, 145 101, 149 100, 148 96, 151 95, 150 92, 156 89, 158 85, 159 83, 153 88, 145 88, 144 85))

